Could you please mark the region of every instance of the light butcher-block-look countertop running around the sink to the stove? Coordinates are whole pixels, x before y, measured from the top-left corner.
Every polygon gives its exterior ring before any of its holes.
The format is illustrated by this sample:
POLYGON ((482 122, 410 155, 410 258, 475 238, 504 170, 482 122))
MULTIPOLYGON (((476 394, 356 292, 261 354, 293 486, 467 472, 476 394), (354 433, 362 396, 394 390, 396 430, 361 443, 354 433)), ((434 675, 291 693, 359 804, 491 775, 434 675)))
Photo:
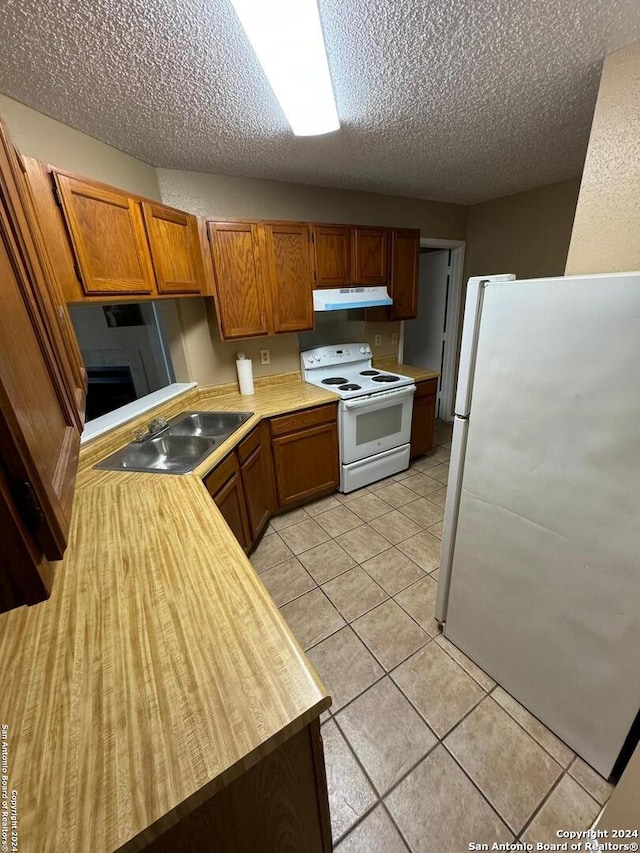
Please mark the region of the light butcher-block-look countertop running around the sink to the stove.
POLYGON ((0 615, 21 853, 140 850, 329 707, 201 477, 262 418, 337 399, 298 374, 193 389, 83 446, 53 594, 0 615), (255 414, 191 474, 92 467, 190 409, 255 414))

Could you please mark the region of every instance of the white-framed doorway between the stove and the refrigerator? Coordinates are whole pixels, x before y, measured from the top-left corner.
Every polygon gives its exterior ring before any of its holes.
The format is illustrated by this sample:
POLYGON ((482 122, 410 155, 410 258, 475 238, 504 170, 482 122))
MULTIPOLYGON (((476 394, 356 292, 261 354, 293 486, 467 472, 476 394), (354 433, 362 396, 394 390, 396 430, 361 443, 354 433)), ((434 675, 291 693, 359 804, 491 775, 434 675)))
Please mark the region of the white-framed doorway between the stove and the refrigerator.
POLYGON ((420 240, 418 314, 403 324, 402 360, 440 374, 436 417, 454 414, 464 242, 420 240))

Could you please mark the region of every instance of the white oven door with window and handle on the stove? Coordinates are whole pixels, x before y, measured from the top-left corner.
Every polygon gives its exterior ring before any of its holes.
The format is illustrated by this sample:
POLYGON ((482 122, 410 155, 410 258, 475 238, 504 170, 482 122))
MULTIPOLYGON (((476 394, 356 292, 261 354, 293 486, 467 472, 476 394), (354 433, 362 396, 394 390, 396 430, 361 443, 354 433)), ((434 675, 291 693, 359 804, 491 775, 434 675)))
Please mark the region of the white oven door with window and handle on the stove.
POLYGON ((366 459, 408 444, 415 385, 340 403, 340 461, 366 459))

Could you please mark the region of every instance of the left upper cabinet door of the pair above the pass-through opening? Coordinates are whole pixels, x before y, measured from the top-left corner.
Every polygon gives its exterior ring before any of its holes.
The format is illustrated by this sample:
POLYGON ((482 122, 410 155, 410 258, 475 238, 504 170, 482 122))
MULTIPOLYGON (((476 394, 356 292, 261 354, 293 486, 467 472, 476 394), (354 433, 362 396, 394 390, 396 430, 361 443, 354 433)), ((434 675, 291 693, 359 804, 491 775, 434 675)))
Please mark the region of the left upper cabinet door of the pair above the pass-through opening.
POLYGON ((118 190, 56 173, 87 296, 150 295, 155 281, 140 204, 118 190))

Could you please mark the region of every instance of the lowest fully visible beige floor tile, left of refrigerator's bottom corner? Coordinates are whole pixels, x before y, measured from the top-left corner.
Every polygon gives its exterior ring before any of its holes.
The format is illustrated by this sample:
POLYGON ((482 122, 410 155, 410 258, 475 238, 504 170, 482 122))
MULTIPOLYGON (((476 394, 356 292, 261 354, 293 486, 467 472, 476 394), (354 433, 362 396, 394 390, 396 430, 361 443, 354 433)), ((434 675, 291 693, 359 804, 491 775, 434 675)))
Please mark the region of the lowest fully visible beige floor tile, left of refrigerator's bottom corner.
POLYGON ((522 830, 562 768, 491 697, 445 740, 509 828, 522 830))

